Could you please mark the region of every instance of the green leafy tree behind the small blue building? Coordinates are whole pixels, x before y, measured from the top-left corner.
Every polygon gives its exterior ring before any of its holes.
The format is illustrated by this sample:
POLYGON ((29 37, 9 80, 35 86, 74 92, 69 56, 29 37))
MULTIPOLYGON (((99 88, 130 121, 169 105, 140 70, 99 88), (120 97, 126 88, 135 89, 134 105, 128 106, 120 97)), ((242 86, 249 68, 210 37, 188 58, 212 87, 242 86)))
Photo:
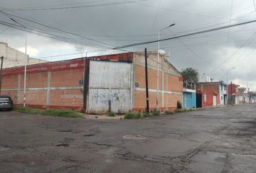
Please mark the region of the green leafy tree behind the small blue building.
POLYGON ((199 79, 199 74, 197 69, 186 68, 182 70, 182 77, 184 81, 184 86, 186 88, 192 89, 192 84, 197 84, 199 79))

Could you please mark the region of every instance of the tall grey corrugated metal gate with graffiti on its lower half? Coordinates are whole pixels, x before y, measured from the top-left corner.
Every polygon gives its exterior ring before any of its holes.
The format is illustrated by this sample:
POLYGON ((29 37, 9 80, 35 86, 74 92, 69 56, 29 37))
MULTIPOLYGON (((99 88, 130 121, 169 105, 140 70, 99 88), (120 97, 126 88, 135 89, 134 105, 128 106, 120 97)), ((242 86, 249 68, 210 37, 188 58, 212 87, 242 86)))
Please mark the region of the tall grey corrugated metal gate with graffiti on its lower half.
POLYGON ((132 64, 90 61, 88 113, 129 112, 132 64))

